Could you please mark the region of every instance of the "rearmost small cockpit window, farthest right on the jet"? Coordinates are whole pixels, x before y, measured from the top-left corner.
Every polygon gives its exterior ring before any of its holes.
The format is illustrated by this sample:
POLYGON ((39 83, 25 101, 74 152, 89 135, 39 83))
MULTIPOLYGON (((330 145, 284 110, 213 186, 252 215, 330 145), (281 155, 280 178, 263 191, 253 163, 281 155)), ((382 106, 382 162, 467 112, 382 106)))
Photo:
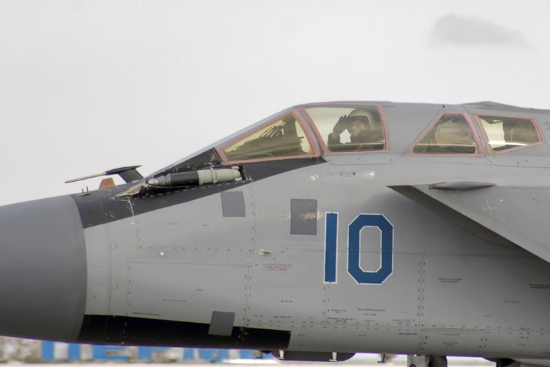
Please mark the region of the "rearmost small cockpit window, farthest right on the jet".
POLYGON ((528 118, 487 115, 477 118, 493 151, 527 147, 541 141, 533 120, 528 118))

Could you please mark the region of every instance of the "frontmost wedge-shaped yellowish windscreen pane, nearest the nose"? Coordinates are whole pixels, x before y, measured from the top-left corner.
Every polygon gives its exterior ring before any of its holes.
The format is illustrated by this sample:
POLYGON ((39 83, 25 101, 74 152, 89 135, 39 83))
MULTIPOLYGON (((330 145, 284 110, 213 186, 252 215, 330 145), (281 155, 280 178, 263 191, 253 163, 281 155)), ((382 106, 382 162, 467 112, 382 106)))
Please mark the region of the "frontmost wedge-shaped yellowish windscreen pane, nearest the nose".
POLYGON ((306 156, 312 150, 300 123, 289 114, 225 147, 223 154, 229 161, 236 161, 306 156))

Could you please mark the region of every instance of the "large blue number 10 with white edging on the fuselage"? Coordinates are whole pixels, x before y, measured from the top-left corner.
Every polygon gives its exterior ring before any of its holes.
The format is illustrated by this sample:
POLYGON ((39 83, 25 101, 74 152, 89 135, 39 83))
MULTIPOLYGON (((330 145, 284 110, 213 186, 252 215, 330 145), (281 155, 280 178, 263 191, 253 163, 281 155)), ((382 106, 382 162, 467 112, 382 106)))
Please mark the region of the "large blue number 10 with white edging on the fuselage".
MULTIPOLYGON (((338 256, 338 213, 327 213, 325 229, 325 283, 336 283, 338 256)), ((360 214, 348 226, 348 273, 359 284, 382 284, 393 273, 393 225, 382 214, 360 214), (360 266, 360 237, 364 227, 380 229, 380 269, 364 271, 360 266)))

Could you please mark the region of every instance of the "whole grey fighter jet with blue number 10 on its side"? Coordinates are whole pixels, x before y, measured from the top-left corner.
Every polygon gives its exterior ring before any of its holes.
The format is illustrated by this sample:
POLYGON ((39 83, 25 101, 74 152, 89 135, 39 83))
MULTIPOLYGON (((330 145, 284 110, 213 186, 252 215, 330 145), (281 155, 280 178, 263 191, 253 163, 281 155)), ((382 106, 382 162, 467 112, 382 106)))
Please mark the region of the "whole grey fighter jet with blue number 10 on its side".
POLYGON ((550 111, 312 103, 0 208, 0 334, 550 366, 550 111))

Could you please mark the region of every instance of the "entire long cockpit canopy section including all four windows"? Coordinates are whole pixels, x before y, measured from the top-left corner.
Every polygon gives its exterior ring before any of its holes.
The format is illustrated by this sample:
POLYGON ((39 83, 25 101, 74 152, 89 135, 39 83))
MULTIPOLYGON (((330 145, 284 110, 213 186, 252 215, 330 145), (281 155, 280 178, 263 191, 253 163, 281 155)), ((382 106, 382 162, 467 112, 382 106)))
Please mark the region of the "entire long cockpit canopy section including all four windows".
POLYGON ((159 173, 267 160, 320 156, 336 159, 340 154, 361 154, 358 158, 366 159, 362 162, 370 162, 369 154, 384 151, 399 156, 482 156, 545 142, 534 117, 538 115, 509 106, 505 112, 495 114, 498 108, 504 107, 398 103, 300 105, 159 173), (492 111, 481 113, 482 107, 485 112, 492 111), (388 134, 390 131, 393 137, 388 134), (388 143, 389 138, 394 146, 388 143))

